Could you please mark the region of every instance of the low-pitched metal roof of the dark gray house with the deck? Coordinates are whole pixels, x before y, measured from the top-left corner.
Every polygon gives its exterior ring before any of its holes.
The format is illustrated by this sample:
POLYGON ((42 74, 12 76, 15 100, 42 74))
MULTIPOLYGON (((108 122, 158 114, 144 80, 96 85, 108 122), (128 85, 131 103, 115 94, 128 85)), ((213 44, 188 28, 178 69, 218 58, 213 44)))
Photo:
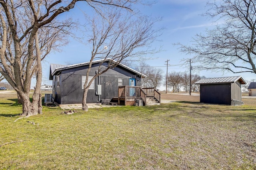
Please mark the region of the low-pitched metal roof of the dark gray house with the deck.
MULTIPOLYGON (((92 64, 94 63, 100 63, 100 62, 107 62, 107 61, 112 61, 112 62, 115 62, 117 63, 115 60, 112 60, 112 59, 102 59, 102 60, 95 60, 95 61, 92 61, 92 64)), ((85 66, 85 65, 88 65, 90 64, 90 62, 86 62, 86 63, 79 63, 79 64, 73 64, 73 65, 61 65, 61 64, 50 64, 50 76, 49 76, 49 80, 52 80, 52 76, 58 72, 58 71, 62 71, 62 70, 66 70, 66 69, 69 69, 69 68, 76 68, 76 67, 79 67, 79 66, 85 66)), ((146 77, 145 74, 142 74, 124 64, 121 64, 119 63, 118 64, 119 66, 122 66, 123 68, 126 68, 127 70, 130 70, 132 72, 134 72, 135 74, 138 74, 138 75, 141 75, 142 77, 146 77)))

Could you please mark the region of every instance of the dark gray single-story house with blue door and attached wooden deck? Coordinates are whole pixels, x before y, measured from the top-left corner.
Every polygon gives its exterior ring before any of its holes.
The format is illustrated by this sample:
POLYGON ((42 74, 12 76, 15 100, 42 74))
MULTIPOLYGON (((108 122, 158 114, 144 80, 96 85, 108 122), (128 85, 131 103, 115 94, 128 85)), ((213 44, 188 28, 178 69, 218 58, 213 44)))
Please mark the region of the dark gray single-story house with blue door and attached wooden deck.
MULTIPOLYGON (((109 62, 116 62, 111 59, 97 60, 92 62, 89 73, 89 80, 96 74, 99 66, 104 69, 109 62)), ((50 80, 52 81, 52 98, 58 104, 81 104, 84 91, 84 82, 89 62, 60 65, 50 64, 50 80)), ((146 97, 152 94, 155 89, 142 89, 141 78, 146 75, 128 67, 118 64, 116 67, 107 70, 96 77, 88 90, 86 102, 103 103, 115 100, 115 104, 124 103, 134 105, 136 100, 143 100, 146 105, 146 97), (144 94, 142 94, 142 91, 144 94), (123 102, 124 101, 124 102, 123 102)), ((160 97, 159 102, 160 102, 160 97)))

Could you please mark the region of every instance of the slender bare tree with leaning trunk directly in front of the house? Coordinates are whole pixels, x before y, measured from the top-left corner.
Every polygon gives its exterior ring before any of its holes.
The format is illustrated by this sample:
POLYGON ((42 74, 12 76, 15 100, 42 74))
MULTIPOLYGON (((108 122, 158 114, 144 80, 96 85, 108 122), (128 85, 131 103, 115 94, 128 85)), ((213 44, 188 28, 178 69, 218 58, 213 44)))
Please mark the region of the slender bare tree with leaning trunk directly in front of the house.
POLYGON ((153 29, 154 23, 159 20, 146 16, 135 18, 130 13, 121 13, 118 8, 105 14, 104 18, 96 17, 91 20, 92 35, 88 37, 88 42, 92 45, 92 55, 84 83, 82 100, 84 111, 88 111, 87 93, 96 77, 110 68, 116 67, 124 59, 131 60, 147 53, 155 53, 154 49, 149 49, 149 45, 156 39, 160 31, 160 29, 153 29), (94 59, 102 59, 102 63, 89 81, 88 77, 94 59), (108 65, 103 65, 105 61, 108 61, 108 65))

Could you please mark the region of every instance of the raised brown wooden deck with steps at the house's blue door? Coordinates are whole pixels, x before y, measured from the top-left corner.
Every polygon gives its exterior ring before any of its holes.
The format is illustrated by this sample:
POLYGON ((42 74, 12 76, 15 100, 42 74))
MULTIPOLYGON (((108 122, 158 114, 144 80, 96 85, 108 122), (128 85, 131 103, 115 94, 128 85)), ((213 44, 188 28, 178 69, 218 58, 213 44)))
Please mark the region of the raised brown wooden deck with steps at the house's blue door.
POLYGON ((147 106, 147 100, 161 102, 161 94, 155 88, 142 88, 140 86, 120 86, 118 87, 118 105, 121 102, 125 106, 134 106, 136 100, 142 100, 143 105, 147 106))

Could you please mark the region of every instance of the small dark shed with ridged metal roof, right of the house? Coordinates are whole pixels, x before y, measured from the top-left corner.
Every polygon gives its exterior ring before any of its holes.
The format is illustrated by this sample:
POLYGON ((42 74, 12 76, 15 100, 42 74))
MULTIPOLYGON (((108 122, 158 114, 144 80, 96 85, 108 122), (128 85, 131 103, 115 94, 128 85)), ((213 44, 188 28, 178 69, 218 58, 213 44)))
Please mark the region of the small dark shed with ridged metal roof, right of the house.
POLYGON ((241 84, 246 81, 241 76, 205 78, 200 84, 200 102, 207 104, 242 105, 241 84))

